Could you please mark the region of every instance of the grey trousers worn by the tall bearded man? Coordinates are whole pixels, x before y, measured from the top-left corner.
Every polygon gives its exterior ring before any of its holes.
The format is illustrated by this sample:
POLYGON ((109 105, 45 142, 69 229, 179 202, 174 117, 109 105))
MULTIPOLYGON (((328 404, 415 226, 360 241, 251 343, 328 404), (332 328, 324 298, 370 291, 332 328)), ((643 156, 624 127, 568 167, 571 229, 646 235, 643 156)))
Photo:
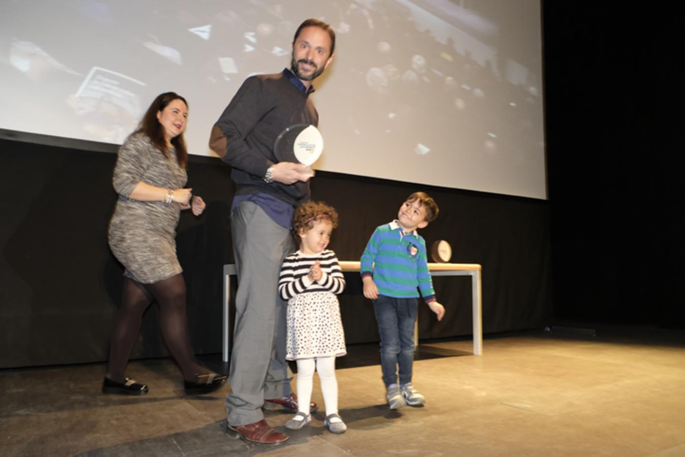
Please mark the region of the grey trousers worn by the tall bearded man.
POLYGON ((286 362, 287 302, 278 296, 281 264, 293 247, 290 231, 259 206, 243 201, 231 219, 238 267, 236 321, 226 397, 229 425, 264 419, 264 399, 290 395, 286 362))

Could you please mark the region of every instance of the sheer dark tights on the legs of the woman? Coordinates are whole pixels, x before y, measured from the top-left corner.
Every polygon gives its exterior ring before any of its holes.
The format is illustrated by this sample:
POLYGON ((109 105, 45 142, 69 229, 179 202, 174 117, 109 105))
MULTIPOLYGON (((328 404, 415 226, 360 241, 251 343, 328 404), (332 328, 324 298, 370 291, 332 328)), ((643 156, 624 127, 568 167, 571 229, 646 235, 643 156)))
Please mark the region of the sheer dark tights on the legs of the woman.
POLYGON ((197 365, 190 346, 186 316, 186 282, 183 275, 179 273, 153 284, 140 284, 125 277, 121 309, 116 314, 110 341, 110 362, 107 371, 110 380, 123 382, 126 363, 140 333, 142 313, 153 299, 160 306, 162 336, 181 367, 183 377, 193 381, 198 373, 206 371, 197 365))

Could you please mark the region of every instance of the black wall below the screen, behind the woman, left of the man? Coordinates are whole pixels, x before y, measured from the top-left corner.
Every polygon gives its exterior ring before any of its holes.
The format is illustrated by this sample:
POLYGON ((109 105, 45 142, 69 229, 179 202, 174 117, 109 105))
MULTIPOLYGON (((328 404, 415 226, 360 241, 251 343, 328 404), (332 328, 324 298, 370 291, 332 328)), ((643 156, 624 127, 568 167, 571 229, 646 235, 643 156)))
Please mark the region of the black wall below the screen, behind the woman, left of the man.
MULTIPOLYGON (((116 155, 10 140, 0 140, 0 151, 3 194, 14 195, 0 221, 0 367, 105 360, 123 280, 107 243, 116 155)), ((230 243, 219 196, 233 190, 225 167, 197 165, 189 184, 202 195, 202 182, 211 182, 216 198, 199 219, 184 212, 177 251, 190 328, 201 335, 195 349, 206 353, 221 344, 221 266, 230 243)), ((134 358, 166 354, 156 312, 146 313, 134 358)))

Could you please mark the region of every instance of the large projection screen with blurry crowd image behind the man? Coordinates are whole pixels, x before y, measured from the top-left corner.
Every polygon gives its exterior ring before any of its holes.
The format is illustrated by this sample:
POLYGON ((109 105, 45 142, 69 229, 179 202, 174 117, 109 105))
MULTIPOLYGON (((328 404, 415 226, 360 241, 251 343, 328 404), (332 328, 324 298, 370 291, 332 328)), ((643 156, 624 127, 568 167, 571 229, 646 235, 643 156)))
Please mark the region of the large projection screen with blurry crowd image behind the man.
POLYGON ((150 99, 188 99, 190 152, 246 77, 336 31, 316 80, 317 169, 545 198, 538 1, 8 1, 0 128, 121 144, 150 99))

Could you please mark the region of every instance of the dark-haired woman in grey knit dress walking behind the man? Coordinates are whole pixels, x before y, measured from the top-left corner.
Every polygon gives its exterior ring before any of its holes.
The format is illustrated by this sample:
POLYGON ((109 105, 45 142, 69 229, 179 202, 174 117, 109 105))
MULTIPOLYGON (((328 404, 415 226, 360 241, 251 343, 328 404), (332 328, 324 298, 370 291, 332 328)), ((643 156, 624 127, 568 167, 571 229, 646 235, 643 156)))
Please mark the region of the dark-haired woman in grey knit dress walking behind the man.
POLYGON ((186 100, 166 92, 152 102, 138 130, 119 148, 112 180, 119 199, 109 242, 125 271, 103 393, 147 393, 147 386, 126 378, 124 369, 140 332, 142 313, 153 300, 160 307, 164 341, 183 371, 186 392, 209 393, 226 381, 195 360, 186 317, 186 283, 176 257, 181 210, 190 209, 197 216, 205 209, 205 202, 184 188, 187 119, 186 100))

